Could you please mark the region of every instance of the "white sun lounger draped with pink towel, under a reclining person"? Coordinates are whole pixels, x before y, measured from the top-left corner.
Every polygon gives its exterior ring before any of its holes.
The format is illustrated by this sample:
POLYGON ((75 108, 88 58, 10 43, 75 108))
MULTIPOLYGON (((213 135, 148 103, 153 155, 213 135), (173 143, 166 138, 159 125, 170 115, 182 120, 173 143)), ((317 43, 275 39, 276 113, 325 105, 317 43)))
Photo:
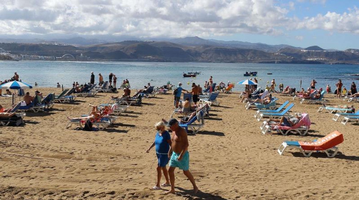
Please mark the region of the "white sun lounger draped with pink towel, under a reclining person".
MULTIPOLYGON (((263 122, 266 123, 266 122, 263 122)), ((277 126, 268 124, 263 126, 262 134, 267 134, 269 132, 278 131, 282 135, 288 135, 289 132, 299 133, 301 136, 305 136, 311 126, 311 121, 307 113, 302 114, 302 118, 294 126, 277 126)))

